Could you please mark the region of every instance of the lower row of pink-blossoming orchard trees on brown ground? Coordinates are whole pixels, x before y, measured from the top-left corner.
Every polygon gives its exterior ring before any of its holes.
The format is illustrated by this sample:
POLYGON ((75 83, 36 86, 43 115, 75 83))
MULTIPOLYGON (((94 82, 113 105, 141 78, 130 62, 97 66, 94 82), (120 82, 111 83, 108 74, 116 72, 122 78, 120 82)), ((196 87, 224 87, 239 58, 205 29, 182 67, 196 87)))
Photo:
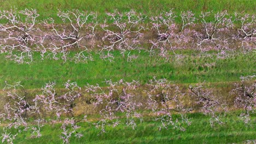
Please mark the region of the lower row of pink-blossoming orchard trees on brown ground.
POLYGON ((193 124, 187 117, 188 113, 202 112, 210 116, 211 127, 215 127, 228 123, 226 114, 234 109, 241 113, 238 116, 241 121, 249 124, 256 105, 254 79, 255 75, 241 77, 241 82, 235 83, 230 91, 230 96, 235 95, 231 103, 214 93, 214 89, 207 88, 205 83, 189 86, 184 91, 165 79, 153 79, 143 86, 134 80, 109 80, 106 81, 107 87, 88 84, 83 88, 76 82, 67 81, 62 91, 55 88, 55 82, 49 82, 42 87, 40 94, 32 95, 19 82, 15 85, 5 83, 7 96, 3 109, 0 109, 0 122, 4 127, 1 139, 12 143, 25 131, 31 131, 31 137, 40 138, 40 129, 45 124, 59 124, 60 138, 63 143, 69 143, 71 137, 84 135, 79 133, 82 123, 92 123, 105 133, 107 127, 119 124, 135 129, 147 116, 161 123, 159 130, 174 128, 185 131, 185 125, 193 124), (79 107, 80 104, 84 107, 79 107), (90 107, 94 107, 96 119, 86 116, 90 107))

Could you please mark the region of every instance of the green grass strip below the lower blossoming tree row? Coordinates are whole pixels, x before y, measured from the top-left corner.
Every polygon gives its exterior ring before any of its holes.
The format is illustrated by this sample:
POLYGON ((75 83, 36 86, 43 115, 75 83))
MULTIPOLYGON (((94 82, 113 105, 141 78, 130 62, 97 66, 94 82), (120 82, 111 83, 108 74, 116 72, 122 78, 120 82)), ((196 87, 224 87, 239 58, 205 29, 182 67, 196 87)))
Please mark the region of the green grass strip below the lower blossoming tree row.
MULTIPOLYGON (((211 128, 208 116, 200 113, 190 114, 191 125, 185 126, 186 131, 177 129, 162 129, 159 131, 160 122, 149 121, 137 125, 135 130, 125 125, 115 128, 108 127, 107 133, 98 135, 100 130, 94 125, 83 123, 79 132, 84 136, 81 139, 72 137, 71 143, 245 143, 246 140, 255 140, 255 120, 252 116, 252 123, 245 125, 236 115, 228 115, 224 125, 216 125, 211 128)), ((62 143, 61 125, 45 125, 41 129, 42 137, 32 139, 30 131, 19 134, 14 143, 62 143)))

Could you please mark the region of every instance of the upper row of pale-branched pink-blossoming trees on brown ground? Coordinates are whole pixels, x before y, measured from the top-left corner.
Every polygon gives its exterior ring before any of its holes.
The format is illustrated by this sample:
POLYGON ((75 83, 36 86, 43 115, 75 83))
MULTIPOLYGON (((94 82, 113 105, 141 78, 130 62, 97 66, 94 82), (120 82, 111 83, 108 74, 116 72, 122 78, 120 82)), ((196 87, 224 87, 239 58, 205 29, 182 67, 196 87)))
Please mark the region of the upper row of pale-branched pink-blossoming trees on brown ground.
POLYGON ((195 16, 191 11, 174 14, 170 10, 145 16, 131 10, 107 13, 106 21, 99 23, 95 13, 69 10, 59 11, 62 24, 52 18, 38 21, 38 16, 34 9, 0 11, 0 52, 15 62, 31 63, 34 53, 40 53, 42 59, 84 62, 93 59, 91 51, 112 59, 112 51, 119 50, 131 61, 137 57, 134 50, 165 58, 183 49, 213 50, 220 58, 237 50, 255 50, 255 15, 210 11, 195 16), (214 20, 209 21, 213 15, 214 20), (181 23, 175 23, 176 19, 181 23), (70 56, 70 51, 77 53, 70 56))

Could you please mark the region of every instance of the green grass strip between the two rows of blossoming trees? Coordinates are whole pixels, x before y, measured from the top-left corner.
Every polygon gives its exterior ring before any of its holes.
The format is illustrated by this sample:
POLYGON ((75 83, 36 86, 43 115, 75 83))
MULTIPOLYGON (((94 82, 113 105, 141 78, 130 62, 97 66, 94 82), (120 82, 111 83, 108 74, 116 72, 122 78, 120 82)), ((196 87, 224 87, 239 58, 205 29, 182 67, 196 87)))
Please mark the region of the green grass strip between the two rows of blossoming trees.
POLYGON ((40 61, 35 54, 31 64, 17 64, 0 55, 0 87, 4 81, 9 83, 21 81, 25 88, 40 88, 49 81, 56 81, 57 87, 67 80, 77 81, 79 86, 86 83, 102 83, 104 80, 126 81, 139 80, 142 84, 153 79, 166 78, 176 83, 226 82, 239 81, 240 76, 253 75, 255 70, 255 53, 243 55, 236 53, 227 59, 216 56, 198 56, 188 51, 183 59, 172 56, 169 60, 159 56, 150 57, 147 52, 135 52, 137 59, 127 62, 119 52, 114 52, 114 62, 104 61, 94 54, 94 61, 74 63, 44 59, 40 61))

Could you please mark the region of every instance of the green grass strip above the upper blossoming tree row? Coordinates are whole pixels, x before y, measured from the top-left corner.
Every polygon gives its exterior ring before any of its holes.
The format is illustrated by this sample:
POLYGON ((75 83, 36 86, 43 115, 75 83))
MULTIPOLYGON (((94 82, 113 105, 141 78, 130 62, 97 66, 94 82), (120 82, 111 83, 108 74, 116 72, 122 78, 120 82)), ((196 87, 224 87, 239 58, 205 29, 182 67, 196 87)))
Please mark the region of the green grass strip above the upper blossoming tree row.
MULTIPOLYGON (((256 2, 253 0, 184 0, 184 1, 132 1, 132 0, 87 0, 87 1, 50 1, 50 0, 13 0, 5 1, 1 0, 0 10, 6 10, 10 8, 18 8, 18 10, 24 10, 25 8, 37 9, 40 14, 39 20, 48 19, 49 17, 57 18, 57 11, 67 9, 79 9, 84 11, 94 11, 98 15, 98 19, 103 22, 106 16, 106 12, 113 12, 114 9, 118 11, 129 11, 135 9, 136 11, 146 15, 156 15, 162 11, 168 11, 173 9, 177 14, 182 11, 191 10, 196 15, 199 15, 201 11, 213 11, 213 14, 217 11, 228 10, 229 13, 238 12, 240 14, 254 14, 256 2)), ((213 18, 213 17, 212 17, 213 18)), ((56 21, 58 22, 58 21, 56 21)), ((60 22, 60 21, 59 21, 60 22)))

